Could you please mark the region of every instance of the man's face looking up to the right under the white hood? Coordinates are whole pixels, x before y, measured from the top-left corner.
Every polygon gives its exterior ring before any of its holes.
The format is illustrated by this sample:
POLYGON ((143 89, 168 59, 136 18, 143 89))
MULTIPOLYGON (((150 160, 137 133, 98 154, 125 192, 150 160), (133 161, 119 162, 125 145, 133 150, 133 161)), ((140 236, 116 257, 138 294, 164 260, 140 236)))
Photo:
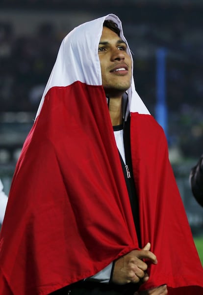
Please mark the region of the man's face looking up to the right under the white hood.
POLYGON ((103 27, 99 44, 102 86, 106 95, 122 95, 131 85, 132 60, 126 43, 111 29, 103 27))

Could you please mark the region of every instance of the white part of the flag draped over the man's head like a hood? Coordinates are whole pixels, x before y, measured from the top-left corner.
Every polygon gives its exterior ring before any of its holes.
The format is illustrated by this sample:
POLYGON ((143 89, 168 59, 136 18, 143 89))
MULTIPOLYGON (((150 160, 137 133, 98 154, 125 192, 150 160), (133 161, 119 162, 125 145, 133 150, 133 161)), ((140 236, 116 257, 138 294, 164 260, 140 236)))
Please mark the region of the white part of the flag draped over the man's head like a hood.
MULTIPOLYGON (((121 38, 127 43, 123 34, 122 23, 114 14, 108 14, 73 29, 61 43, 56 62, 51 71, 51 76, 43 93, 36 117, 41 111, 45 95, 52 87, 65 87, 76 81, 86 83, 87 85, 101 85, 101 67, 98 56, 98 45, 104 20, 113 20, 118 25, 119 29, 121 29, 121 38)), ((127 53, 132 59, 128 45, 127 53)), ((133 78, 131 87, 127 90, 127 94, 130 112, 150 114, 135 90, 133 78)))

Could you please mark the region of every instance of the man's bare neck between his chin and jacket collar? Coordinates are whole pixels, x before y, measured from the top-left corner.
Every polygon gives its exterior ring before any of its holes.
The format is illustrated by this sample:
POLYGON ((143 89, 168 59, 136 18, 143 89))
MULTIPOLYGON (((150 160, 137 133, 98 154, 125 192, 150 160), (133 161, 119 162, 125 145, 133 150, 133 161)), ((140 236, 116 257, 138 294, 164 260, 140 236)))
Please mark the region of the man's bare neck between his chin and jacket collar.
POLYGON ((122 97, 109 98, 109 114, 113 126, 122 124, 123 110, 122 110, 122 97))

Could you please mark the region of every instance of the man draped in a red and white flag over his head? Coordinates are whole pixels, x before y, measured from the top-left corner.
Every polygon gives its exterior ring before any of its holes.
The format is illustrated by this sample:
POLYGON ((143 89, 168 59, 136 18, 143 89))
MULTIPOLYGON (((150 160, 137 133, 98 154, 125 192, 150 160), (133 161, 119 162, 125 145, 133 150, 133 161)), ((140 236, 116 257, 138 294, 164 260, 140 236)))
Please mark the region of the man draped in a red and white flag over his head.
POLYGON ((0 294, 203 291, 164 132, 132 72, 115 15, 63 40, 11 186, 0 294))

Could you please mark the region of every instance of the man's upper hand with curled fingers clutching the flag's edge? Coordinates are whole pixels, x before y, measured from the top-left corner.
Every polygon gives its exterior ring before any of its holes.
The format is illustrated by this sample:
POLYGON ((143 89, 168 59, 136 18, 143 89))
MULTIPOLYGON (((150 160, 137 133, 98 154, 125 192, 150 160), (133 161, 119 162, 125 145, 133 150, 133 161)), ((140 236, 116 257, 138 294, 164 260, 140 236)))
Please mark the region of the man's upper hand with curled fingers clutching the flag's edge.
POLYGON ((141 250, 133 250, 117 259, 114 265, 112 281, 115 284, 138 283, 141 279, 146 282, 149 275, 146 273, 147 264, 142 259, 157 264, 156 256, 150 252, 151 244, 147 243, 141 250))

